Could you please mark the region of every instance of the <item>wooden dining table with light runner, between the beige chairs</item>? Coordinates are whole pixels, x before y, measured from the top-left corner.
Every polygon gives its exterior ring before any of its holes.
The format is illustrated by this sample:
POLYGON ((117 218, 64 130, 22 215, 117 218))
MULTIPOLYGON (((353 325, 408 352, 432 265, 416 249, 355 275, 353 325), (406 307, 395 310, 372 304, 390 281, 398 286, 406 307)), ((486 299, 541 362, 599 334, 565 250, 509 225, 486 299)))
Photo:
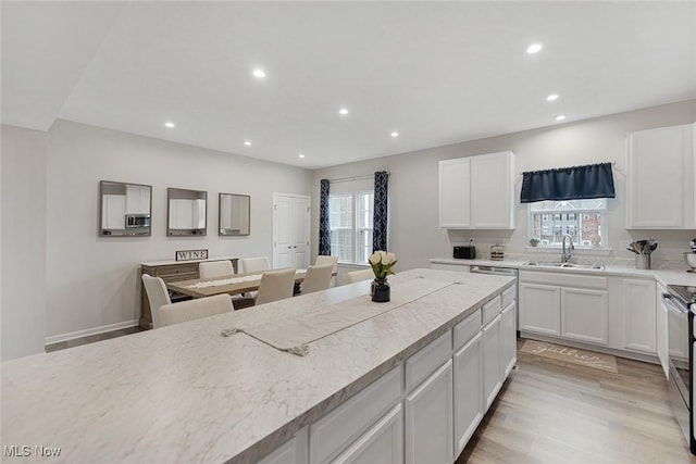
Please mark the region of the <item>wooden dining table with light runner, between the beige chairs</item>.
MULTIPOLYGON (((302 280, 304 280, 306 274, 307 269, 296 269, 295 284, 301 284, 302 280)), ((169 281, 166 283, 166 288, 171 291, 187 294, 192 298, 206 298, 222 293, 240 294, 258 290, 262 275, 263 272, 256 271, 251 273, 240 273, 213 278, 169 281)), ((332 275, 336 276, 336 272, 332 275)))

